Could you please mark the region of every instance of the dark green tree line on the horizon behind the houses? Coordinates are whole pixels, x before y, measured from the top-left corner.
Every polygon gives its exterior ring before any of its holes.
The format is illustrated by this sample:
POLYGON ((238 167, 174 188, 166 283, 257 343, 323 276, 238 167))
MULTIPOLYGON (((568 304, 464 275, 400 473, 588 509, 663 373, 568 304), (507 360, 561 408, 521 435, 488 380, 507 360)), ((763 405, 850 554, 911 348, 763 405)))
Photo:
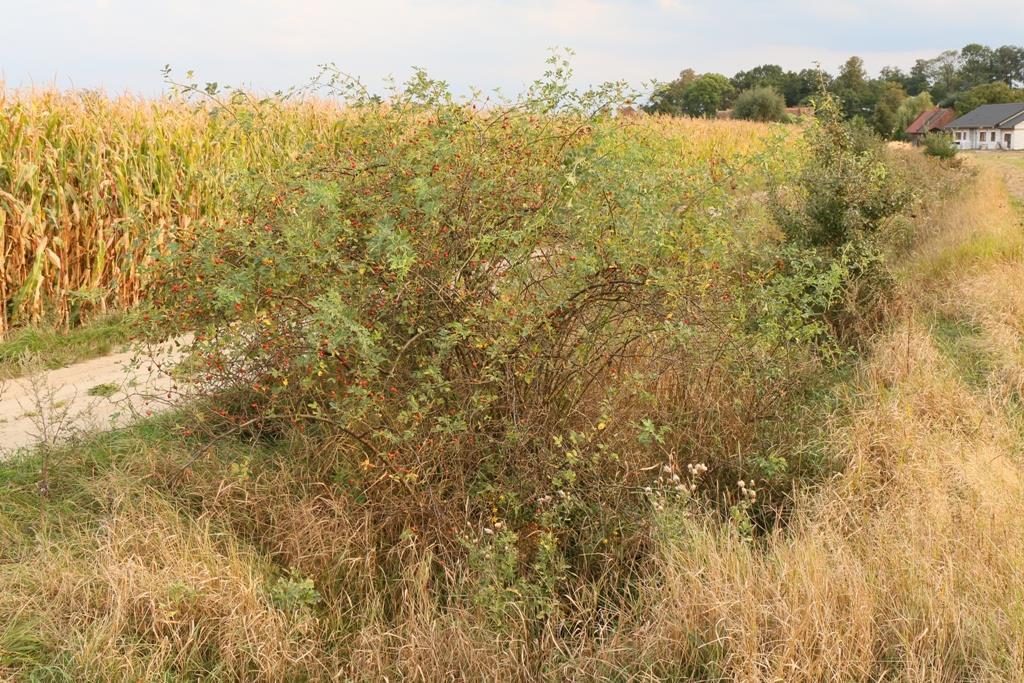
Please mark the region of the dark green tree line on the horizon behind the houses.
POLYGON ((978 43, 918 59, 908 71, 885 67, 871 78, 864 61, 851 56, 831 75, 761 65, 732 78, 685 69, 659 84, 645 106, 651 113, 714 117, 723 110, 759 121, 784 121, 787 106, 810 103, 822 88, 842 103, 848 119, 860 119, 881 135, 900 138, 922 112, 951 106, 958 115, 981 104, 1024 101, 1024 47, 978 43))

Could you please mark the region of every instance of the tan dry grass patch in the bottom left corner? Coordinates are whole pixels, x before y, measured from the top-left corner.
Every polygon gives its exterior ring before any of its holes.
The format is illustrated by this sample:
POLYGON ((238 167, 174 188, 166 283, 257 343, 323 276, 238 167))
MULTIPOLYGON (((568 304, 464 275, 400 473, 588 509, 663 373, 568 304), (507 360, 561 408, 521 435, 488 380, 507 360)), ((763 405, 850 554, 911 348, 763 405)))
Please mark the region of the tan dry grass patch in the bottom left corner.
POLYGON ((18 596, 5 611, 32 613, 34 636, 59 642, 80 680, 152 680, 210 660, 274 680, 309 656, 314 623, 273 608, 259 562, 236 543, 153 499, 118 504, 104 522, 86 554, 44 547, 5 572, 18 596))

